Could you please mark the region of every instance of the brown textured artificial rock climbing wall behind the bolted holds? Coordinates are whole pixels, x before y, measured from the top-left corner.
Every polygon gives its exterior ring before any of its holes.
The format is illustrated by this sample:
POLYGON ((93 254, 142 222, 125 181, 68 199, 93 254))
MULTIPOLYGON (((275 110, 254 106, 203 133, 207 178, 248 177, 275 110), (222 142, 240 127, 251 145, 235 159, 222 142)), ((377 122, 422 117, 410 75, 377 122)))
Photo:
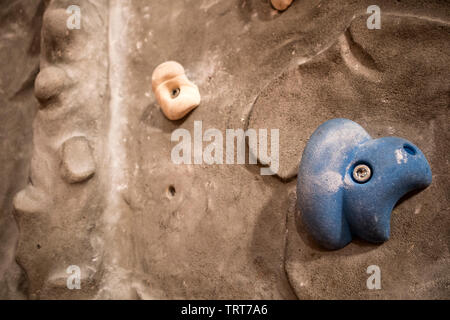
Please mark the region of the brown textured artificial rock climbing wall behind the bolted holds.
POLYGON ((26 53, 2 51, 0 62, 4 297, 450 296, 448 2, 383 2, 381 30, 365 26, 370 1, 296 0, 284 12, 269 0, 11 3, 0 2, 10 17, 0 45, 26 53), (72 4, 81 30, 64 27, 72 4), (18 21, 28 21, 22 32, 18 21), (151 90, 152 71, 169 60, 202 96, 178 121, 151 90), (432 185, 394 209, 381 246, 324 251, 297 223, 301 152, 334 117, 407 138, 430 161, 432 185), (171 133, 193 135, 197 120, 222 132, 280 129, 278 176, 257 165, 173 164, 171 133), (382 289, 369 291, 374 264, 382 289), (66 288, 70 265, 81 268, 81 290, 66 288))

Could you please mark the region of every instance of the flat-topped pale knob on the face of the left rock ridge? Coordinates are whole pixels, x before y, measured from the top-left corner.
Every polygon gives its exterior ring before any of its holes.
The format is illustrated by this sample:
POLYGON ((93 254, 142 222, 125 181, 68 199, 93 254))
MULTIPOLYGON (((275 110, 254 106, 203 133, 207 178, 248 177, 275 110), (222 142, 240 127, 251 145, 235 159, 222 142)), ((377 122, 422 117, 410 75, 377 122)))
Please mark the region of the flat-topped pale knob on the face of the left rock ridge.
POLYGON ((78 183, 92 177, 95 162, 89 141, 82 136, 72 137, 61 146, 61 173, 69 183, 78 183))

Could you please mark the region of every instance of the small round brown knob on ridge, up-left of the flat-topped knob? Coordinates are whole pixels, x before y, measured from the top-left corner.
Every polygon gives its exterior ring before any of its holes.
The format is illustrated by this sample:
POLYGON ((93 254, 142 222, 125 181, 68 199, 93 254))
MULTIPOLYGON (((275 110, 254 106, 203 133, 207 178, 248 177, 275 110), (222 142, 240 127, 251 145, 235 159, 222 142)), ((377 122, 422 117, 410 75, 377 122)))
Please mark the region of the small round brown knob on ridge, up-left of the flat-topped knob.
POLYGON ((48 67, 39 72, 34 82, 34 95, 40 102, 58 96, 64 89, 67 76, 64 70, 48 67))

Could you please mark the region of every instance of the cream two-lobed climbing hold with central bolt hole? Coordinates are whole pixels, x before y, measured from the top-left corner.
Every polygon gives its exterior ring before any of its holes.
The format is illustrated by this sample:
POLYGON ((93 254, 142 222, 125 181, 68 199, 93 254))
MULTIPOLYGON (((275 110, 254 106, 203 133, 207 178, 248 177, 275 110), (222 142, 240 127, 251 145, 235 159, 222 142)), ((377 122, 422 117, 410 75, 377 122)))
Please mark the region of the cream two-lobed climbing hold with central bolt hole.
POLYGON ((200 92, 178 62, 167 61, 153 71, 152 89, 163 113, 170 120, 183 118, 200 104, 200 92))

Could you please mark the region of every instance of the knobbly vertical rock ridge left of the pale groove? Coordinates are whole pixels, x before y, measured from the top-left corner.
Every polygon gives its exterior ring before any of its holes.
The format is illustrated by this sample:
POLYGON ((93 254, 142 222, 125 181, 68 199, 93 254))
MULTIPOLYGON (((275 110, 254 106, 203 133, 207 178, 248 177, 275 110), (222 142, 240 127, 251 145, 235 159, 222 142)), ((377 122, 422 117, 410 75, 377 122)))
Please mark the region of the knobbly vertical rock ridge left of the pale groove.
POLYGON ((83 29, 68 30, 70 4, 52 1, 44 13, 35 93, 45 108, 33 124, 30 183, 14 198, 20 229, 16 256, 27 274, 30 298, 94 297, 103 261, 108 6, 82 1, 83 29), (75 80, 66 87, 69 78, 75 80), (95 164, 99 170, 92 177, 95 164), (66 287, 70 265, 81 268, 82 291, 66 287))

